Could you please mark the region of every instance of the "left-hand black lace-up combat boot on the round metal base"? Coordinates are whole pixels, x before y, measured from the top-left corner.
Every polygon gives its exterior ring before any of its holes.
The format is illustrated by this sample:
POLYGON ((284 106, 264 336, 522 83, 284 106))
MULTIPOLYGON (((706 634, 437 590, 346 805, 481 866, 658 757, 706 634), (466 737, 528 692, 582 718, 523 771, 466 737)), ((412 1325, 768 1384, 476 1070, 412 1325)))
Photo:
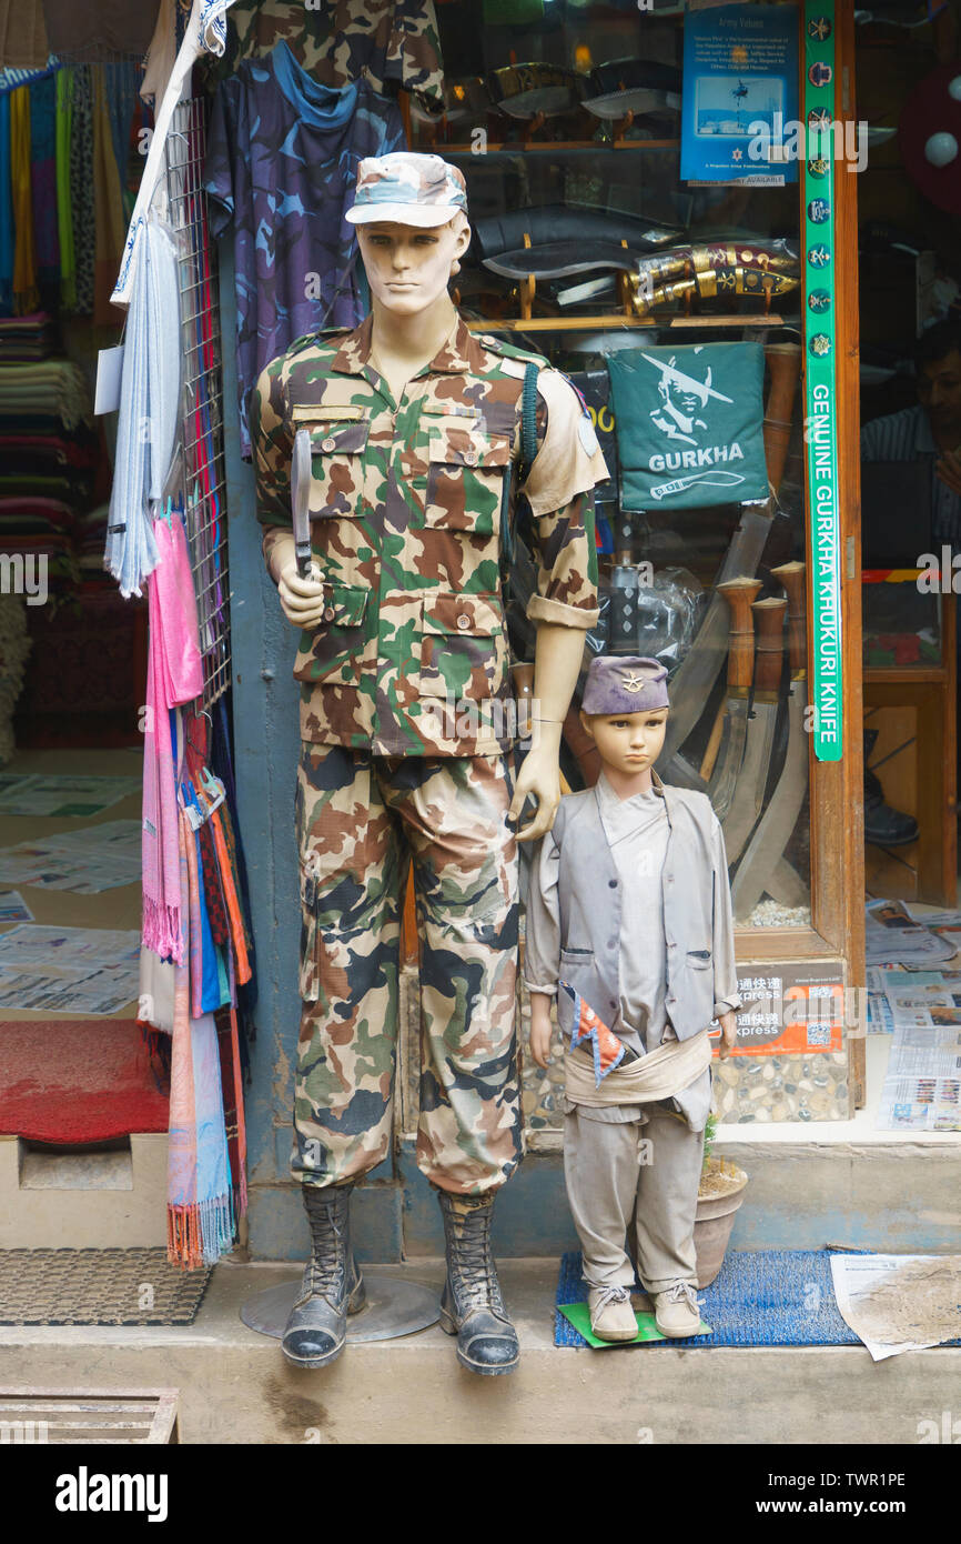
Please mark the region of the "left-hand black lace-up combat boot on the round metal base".
POLYGON ((281 1345, 295 1366, 329 1366, 344 1349, 347 1314, 364 1306, 364 1280, 350 1248, 353 1184, 304 1184, 310 1260, 281 1345))

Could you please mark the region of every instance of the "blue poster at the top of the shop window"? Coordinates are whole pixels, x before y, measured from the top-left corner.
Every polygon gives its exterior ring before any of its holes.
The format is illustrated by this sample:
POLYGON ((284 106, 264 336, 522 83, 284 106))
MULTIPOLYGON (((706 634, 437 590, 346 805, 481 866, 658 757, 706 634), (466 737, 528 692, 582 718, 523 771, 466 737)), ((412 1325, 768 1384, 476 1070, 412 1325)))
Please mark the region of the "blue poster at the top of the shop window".
POLYGON ((797 181, 796 6, 688 11, 683 28, 683 181, 797 181))

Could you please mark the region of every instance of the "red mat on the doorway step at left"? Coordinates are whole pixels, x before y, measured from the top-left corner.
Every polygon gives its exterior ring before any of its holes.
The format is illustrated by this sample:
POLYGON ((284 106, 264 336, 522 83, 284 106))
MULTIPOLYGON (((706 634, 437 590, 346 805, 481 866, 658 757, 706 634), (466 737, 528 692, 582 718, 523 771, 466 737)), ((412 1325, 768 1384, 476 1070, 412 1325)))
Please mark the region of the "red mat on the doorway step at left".
POLYGON ((165 1132, 167 1116, 134 1019, 0 1022, 0 1133, 99 1143, 165 1132))

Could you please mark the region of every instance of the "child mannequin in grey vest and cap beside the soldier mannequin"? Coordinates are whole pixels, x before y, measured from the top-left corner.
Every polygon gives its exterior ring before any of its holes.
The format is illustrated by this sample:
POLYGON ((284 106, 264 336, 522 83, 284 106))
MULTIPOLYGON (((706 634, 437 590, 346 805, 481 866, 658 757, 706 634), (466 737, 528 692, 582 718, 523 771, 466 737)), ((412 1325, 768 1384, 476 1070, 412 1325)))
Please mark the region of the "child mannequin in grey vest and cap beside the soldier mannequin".
POLYGON ((663 665, 594 659, 580 718, 603 770, 595 787, 561 800, 534 865, 531 1053, 548 1065, 552 996, 569 1041, 574 1008, 558 982, 636 1051, 600 1085, 589 1056, 566 1053, 568 1200, 599 1339, 637 1334, 631 1221, 657 1328, 680 1337, 700 1322, 694 1210, 711 1102, 708 1024, 720 1022, 728 1056, 740 1007, 723 837, 706 795, 665 786, 652 770, 668 718, 663 665))

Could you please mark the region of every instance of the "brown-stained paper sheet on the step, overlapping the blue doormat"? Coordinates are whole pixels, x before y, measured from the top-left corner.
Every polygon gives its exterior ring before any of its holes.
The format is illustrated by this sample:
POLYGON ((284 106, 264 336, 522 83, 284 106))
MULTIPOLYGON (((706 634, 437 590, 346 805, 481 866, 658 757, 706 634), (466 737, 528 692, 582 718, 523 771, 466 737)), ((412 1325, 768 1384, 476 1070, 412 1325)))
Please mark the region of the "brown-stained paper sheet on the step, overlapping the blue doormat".
POLYGON ((961 1255, 831 1255, 845 1325, 875 1362, 961 1337, 961 1255))

